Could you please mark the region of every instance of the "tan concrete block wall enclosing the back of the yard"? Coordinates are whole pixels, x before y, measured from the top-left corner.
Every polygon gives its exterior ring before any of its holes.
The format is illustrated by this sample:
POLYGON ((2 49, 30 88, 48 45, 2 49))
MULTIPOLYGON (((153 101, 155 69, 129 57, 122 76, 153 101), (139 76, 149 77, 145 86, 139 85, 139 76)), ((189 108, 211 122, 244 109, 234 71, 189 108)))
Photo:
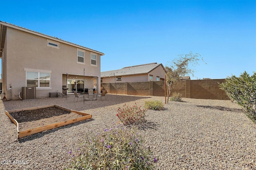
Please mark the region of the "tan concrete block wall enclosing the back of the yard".
MULTIPOLYGON (((182 98, 230 100, 218 82, 225 82, 225 79, 182 80, 172 92, 180 93, 182 98)), ((164 81, 101 83, 101 87, 109 94, 164 96, 164 81)))

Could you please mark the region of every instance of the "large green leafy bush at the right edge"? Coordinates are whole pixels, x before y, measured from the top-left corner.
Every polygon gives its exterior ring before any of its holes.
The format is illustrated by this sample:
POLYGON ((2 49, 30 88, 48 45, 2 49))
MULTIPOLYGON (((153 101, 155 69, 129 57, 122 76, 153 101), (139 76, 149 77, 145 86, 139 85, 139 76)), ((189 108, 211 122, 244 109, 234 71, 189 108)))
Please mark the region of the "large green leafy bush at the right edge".
POLYGON ((226 92, 231 101, 236 101, 245 114, 256 122, 256 72, 250 76, 246 71, 239 77, 226 78, 224 83, 219 83, 220 88, 226 92))

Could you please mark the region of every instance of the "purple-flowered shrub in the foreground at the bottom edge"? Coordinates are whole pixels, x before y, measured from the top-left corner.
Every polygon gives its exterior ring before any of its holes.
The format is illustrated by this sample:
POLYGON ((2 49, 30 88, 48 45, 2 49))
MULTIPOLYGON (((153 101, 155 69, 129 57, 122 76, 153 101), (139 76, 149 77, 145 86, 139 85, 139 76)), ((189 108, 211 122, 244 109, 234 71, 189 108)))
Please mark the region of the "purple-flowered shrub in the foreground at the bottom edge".
POLYGON ((158 161, 136 129, 121 124, 87 138, 68 153, 73 158, 66 170, 153 170, 158 161))

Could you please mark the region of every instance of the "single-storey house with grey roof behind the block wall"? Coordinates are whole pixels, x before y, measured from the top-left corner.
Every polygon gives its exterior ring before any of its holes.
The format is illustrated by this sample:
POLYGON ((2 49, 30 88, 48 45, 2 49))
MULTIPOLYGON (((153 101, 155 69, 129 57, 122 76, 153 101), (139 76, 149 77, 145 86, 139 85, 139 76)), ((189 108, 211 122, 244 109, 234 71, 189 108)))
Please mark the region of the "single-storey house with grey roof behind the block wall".
POLYGON ((102 83, 164 81, 163 64, 150 63, 100 73, 102 83))

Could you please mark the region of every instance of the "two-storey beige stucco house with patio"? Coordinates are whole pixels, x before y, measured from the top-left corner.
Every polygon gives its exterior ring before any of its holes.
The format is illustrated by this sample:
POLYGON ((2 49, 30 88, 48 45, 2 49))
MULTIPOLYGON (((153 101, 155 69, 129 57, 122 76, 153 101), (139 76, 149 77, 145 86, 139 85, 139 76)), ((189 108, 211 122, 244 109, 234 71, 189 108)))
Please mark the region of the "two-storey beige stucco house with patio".
POLYGON ((84 84, 100 88, 104 53, 4 21, 0 21, 0 48, 2 90, 8 100, 18 98, 22 87, 36 87, 37 98, 63 92, 62 86, 68 93, 84 84))

